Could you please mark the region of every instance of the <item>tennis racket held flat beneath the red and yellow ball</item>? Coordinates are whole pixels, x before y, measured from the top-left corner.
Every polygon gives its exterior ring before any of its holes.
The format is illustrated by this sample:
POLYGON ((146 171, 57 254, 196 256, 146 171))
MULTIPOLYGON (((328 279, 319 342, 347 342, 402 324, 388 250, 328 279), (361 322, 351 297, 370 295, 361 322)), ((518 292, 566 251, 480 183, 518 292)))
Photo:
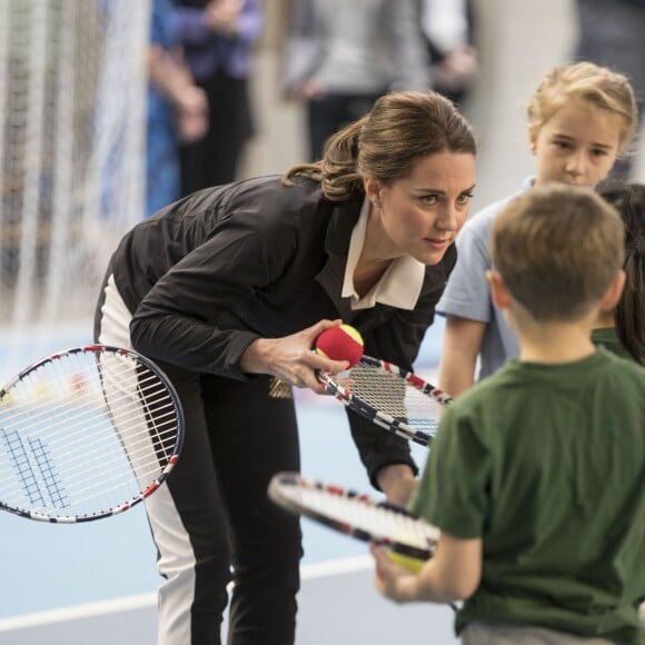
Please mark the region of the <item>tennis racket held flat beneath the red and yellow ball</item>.
POLYGON ((317 376, 347 408, 421 446, 436 435, 441 410, 453 400, 418 375, 370 356, 363 356, 341 379, 325 371, 317 376))

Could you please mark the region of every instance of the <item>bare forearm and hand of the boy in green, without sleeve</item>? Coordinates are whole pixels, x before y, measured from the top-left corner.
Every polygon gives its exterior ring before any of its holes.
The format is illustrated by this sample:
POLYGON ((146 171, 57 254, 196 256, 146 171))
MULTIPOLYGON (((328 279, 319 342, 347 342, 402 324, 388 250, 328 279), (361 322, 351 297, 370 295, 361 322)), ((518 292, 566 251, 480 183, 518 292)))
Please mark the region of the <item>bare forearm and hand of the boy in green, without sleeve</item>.
POLYGON ((482 578, 482 539, 441 533, 437 550, 418 574, 389 559, 385 547, 373 546, 376 587, 397 603, 453 603, 472 596, 482 578))

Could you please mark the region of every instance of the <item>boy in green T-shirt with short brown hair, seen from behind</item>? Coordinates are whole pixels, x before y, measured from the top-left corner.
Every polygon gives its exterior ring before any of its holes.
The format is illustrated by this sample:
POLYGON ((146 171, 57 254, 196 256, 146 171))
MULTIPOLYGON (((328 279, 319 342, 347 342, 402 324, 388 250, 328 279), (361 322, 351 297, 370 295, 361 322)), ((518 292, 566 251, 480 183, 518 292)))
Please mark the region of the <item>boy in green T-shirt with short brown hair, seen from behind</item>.
POLYGON ((624 226, 586 188, 537 187, 492 232, 488 282, 519 359, 445 411, 410 509, 441 529, 418 575, 374 547, 397 602, 466 599, 479 644, 643 644, 645 370, 595 348, 624 226))

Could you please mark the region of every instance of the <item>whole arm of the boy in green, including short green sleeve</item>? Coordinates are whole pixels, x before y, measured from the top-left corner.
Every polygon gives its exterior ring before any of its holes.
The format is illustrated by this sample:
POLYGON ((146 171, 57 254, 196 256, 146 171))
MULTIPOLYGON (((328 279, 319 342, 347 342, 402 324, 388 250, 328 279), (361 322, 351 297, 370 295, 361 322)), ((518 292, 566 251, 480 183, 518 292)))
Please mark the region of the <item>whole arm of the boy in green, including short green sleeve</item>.
POLYGON ((453 603, 468 598, 479 586, 493 452, 482 434, 474 398, 473 391, 446 406, 408 504, 408 510, 441 532, 434 556, 414 574, 393 563, 385 549, 371 549, 377 563, 376 586, 398 603, 453 603))

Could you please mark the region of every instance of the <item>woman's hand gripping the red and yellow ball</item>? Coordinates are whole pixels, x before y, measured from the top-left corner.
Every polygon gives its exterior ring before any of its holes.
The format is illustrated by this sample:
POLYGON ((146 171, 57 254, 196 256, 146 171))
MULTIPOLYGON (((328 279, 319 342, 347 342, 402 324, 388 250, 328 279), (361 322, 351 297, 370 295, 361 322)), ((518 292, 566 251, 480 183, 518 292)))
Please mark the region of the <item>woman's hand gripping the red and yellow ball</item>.
POLYGON ((325 386, 316 378, 316 370, 338 374, 345 371, 349 363, 325 358, 311 348, 325 329, 341 324, 343 320, 320 320, 291 336, 259 338, 242 354, 240 367, 247 374, 270 374, 295 387, 308 387, 324 394, 325 386))

